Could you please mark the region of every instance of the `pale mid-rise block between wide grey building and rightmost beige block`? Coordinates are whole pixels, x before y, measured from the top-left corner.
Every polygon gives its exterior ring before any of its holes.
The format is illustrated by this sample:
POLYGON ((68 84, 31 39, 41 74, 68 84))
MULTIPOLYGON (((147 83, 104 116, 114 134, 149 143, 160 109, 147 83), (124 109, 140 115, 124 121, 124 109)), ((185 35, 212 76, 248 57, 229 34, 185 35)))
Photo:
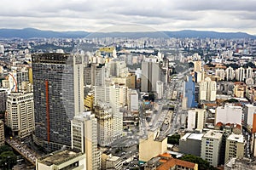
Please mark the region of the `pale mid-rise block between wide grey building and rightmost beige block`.
POLYGON ((212 130, 205 133, 201 139, 201 158, 218 167, 223 133, 212 130))

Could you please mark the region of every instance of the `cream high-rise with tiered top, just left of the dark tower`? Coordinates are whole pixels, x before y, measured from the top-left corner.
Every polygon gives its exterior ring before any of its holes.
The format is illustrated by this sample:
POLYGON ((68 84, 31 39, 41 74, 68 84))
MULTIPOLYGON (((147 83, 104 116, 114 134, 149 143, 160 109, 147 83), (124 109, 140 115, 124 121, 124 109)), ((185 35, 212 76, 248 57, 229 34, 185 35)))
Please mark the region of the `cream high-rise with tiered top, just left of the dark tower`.
POLYGON ((7 126, 13 135, 20 139, 31 135, 35 130, 33 94, 11 93, 6 105, 7 126))

